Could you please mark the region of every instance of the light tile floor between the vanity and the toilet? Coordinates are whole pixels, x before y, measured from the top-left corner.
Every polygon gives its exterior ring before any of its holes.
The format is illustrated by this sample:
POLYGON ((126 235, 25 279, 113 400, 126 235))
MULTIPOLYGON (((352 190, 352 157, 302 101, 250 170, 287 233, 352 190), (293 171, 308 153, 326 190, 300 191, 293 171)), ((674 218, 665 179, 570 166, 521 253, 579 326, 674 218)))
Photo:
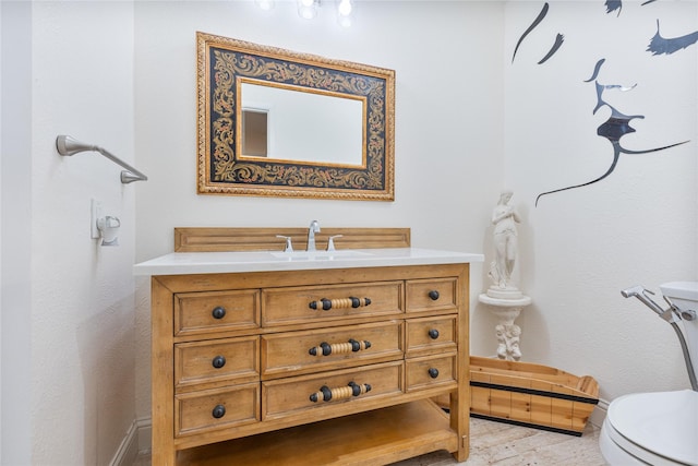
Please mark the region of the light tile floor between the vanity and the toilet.
MULTIPOLYGON (((471 418, 467 462, 458 463, 447 452, 434 452, 393 466, 604 466, 599 432, 591 423, 583 435, 574 437, 471 418)), ((151 456, 142 454, 133 466, 152 466, 151 456)))

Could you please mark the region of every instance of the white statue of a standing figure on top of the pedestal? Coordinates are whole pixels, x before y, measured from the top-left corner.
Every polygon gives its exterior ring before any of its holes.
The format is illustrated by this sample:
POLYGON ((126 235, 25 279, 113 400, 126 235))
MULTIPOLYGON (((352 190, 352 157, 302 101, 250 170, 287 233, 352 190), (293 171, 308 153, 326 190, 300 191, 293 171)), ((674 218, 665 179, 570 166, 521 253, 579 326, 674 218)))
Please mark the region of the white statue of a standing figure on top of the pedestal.
POLYGON ((516 289, 512 286, 512 273, 518 254, 516 224, 521 219, 514 206, 509 204, 512 195, 512 191, 502 192, 500 202, 492 213, 495 261, 492 263, 490 276, 495 285, 502 289, 516 289))

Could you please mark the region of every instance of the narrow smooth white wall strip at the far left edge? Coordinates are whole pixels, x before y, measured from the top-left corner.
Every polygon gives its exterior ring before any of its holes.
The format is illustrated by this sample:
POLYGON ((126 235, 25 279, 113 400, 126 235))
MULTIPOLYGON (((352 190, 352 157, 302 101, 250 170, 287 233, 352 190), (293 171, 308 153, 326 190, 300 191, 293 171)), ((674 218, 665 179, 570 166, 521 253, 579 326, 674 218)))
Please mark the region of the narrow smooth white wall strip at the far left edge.
POLYGON ((2 22, 2 464, 28 464, 31 420, 32 5, 0 2, 2 22), (12 72, 9 72, 9 71, 12 72))

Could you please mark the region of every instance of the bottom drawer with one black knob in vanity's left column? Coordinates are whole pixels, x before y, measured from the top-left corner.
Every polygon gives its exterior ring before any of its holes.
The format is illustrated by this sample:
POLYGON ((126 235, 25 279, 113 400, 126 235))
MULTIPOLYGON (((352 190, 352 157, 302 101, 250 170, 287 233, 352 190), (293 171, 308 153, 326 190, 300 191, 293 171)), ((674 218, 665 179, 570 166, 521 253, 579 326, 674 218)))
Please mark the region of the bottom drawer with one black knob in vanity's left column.
POLYGON ((174 396, 174 435, 183 437, 257 422, 260 384, 174 396))

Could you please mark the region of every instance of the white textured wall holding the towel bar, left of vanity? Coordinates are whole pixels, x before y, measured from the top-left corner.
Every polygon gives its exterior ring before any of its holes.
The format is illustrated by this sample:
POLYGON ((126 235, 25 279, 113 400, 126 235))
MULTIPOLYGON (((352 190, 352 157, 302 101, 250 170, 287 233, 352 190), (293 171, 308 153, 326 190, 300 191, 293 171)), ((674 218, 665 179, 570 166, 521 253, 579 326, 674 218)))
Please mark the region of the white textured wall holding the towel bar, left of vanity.
POLYGON ((72 134, 137 167, 133 4, 35 2, 32 23, 32 464, 108 464, 135 411, 137 184, 96 153, 59 156, 55 141, 72 134), (91 239, 91 198, 121 218, 118 248, 91 239))

